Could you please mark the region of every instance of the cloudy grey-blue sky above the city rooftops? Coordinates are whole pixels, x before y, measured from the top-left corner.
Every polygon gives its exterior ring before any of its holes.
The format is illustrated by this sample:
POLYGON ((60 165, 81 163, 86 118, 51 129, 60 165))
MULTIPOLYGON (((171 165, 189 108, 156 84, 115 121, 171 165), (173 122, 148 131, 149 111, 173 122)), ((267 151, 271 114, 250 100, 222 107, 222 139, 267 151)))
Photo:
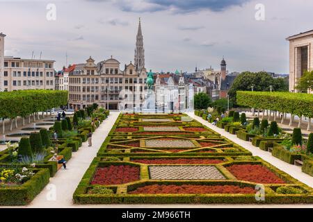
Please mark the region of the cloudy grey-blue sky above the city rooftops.
MULTIPOLYGON (((153 71, 219 69, 288 73, 289 35, 313 29, 312 0, 0 0, 6 56, 134 61, 142 18, 145 65, 153 71), (47 5, 56 6, 56 20, 47 5), (258 3, 265 20, 255 19, 258 3)), ((257 14, 259 15, 259 14, 257 14)))

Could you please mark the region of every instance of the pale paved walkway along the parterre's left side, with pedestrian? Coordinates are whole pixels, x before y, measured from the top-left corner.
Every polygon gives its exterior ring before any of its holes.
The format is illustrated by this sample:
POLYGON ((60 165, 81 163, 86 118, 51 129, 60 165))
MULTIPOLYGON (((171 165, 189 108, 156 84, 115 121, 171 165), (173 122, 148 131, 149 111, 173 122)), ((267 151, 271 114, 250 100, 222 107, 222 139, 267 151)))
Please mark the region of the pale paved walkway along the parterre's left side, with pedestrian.
POLYGON ((27 207, 73 207, 72 196, 81 181, 97 151, 109 134, 119 112, 111 112, 108 119, 93 133, 93 146, 89 147, 84 142, 79 151, 72 153, 72 158, 67 163, 67 170, 60 169, 42 192, 27 207), (56 190, 56 199, 53 200, 53 190, 56 190), (52 199, 52 200, 51 200, 52 199))

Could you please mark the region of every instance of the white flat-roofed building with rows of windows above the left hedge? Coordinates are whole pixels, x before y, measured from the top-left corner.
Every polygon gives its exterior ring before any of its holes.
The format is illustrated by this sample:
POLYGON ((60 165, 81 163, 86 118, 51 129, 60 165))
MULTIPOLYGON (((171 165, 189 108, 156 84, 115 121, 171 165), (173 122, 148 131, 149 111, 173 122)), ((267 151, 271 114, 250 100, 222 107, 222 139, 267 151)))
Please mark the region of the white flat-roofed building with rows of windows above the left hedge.
POLYGON ((55 89, 54 60, 35 60, 5 56, 3 91, 55 89))

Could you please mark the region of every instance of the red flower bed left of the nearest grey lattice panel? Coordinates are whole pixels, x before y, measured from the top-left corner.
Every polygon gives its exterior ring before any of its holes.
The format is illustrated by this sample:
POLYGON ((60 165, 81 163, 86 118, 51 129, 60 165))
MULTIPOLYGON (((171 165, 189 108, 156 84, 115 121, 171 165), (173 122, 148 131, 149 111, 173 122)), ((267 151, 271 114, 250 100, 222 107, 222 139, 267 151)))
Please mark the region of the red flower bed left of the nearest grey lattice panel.
POLYGON ((121 185, 140 180, 140 168, 129 165, 99 167, 92 185, 121 185))

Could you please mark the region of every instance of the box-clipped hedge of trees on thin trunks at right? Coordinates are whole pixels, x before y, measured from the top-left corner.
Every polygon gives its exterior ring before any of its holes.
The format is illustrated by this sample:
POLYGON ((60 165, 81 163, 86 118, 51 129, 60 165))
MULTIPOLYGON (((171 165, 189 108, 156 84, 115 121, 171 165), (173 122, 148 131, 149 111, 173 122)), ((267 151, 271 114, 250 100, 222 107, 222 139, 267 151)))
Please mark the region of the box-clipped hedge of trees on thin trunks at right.
POLYGON ((237 92, 238 105, 313 117, 313 94, 291 92, 237 92))

